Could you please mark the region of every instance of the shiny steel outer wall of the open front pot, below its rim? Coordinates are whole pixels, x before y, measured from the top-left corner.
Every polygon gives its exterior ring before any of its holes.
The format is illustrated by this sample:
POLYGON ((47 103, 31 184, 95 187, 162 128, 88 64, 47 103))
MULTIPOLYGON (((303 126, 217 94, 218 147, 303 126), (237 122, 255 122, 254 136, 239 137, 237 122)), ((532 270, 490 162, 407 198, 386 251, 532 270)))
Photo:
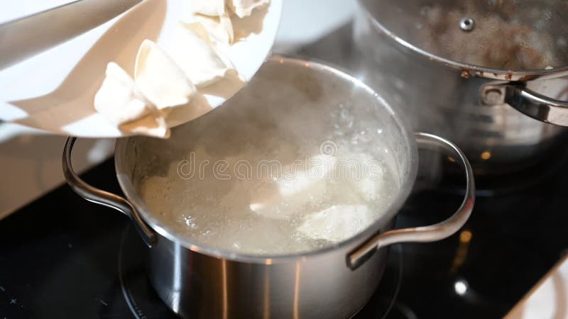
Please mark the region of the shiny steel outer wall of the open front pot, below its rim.
POLYGON ((150 249, 149 276, 183 318, 343 319, 371 298, 386 264, 387 248, 381 248, 351 270, 346 255, 353 248, 261 264, 211 257, 159 237, 150 249))

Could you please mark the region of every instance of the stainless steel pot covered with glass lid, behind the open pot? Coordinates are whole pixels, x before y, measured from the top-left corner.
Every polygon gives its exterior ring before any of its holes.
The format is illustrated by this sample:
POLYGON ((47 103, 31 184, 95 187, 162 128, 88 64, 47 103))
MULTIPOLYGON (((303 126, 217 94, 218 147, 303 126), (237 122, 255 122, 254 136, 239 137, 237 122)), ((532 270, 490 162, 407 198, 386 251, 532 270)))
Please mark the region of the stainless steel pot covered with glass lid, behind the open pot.
MULTIPOLYGON (((413 34, 413 30, 426 28, 424 12, 432 6, 444 8, 442 15, 453 9, 463 12, 463 20, 452 21, 444 28, 455 28, 457 33, 462 28, 464 37, 471 36, 469 28, 481 28, 475 21, 463 25, 468 12, 501 14, 495 6, 506 6, 502 10, 510 11, 506 12, 508 18, 518 17, 529 28, 550 34, 559 45, 565 45, 566 10, 557 8, 564 5, 562 1, 513 4, 359 0, 358 3, 354 41, 364 55, 361 62, 364 81, 381 91, 393 105, 402 106, 402 111, 413 121, 413 128, 442 135, 460 145, 476 173, 510 172, 534 164, 555 138, 565 132, 564 128, 547 124, 568 125, 568 103, 564 101, 568 99, 565 53, 559 61, 564 64, 553 69, 501 69, 458 62, 431 52, 422 45, 426 41, 418 40, 413 34), (545 9, 540 12, 535 8, 545 9), (540 16, 532 17, 535 12, 540 16)), ((433 28, 429 35, 441 38, 443 32, 433 28)), ((493 50, 497 51, 501 50, 498 45, 506 45, 510 40, 501 38, 467 47, 454 43, 442 45, 452 50, 496 45, 493 50)))

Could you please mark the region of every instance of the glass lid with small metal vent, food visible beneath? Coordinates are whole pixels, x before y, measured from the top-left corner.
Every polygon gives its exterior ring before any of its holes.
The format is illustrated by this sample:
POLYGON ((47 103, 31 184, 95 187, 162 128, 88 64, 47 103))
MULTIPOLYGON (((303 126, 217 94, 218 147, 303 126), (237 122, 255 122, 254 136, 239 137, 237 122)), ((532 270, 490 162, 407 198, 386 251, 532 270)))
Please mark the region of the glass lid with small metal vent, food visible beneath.
POLYGON ((388 33, 468 65, 514 71, 568 65, 562 0, 360 0, 388 33))

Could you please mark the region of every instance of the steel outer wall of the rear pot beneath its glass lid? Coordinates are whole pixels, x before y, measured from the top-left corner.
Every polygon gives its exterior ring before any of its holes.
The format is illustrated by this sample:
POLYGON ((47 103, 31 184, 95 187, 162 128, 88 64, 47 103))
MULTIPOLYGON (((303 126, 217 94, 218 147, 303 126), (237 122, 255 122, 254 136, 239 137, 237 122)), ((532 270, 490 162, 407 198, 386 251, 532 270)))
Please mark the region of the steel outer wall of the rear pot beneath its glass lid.
MULTIPOLYGON (((415 130, 460 145, 476 172, 523 169, 564 131, 516 111, 503 96, 484 95, 487 85, 523 80, 522 75, 479 72, 424 54, 388 33, 361 2, 354 41, 363 55, 359 72, 364 81, 400 106, 415 130)), ((566 77, 537 79, 525 87, 554 99, 568 97, 566 77)))

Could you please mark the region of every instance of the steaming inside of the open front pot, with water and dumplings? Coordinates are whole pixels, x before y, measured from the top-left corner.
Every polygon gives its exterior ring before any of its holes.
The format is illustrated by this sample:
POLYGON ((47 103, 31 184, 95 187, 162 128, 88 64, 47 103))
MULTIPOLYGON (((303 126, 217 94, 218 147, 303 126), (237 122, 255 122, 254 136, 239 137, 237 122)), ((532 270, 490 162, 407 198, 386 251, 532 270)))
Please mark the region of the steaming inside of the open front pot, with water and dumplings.
POLYGON ((224 106, 170 139, 119 140, 116 169, 126 196, 170 240, 266 257, 376 233, 408 196, 415 157, 413 134, 367 86, 273 57, 224 106))

